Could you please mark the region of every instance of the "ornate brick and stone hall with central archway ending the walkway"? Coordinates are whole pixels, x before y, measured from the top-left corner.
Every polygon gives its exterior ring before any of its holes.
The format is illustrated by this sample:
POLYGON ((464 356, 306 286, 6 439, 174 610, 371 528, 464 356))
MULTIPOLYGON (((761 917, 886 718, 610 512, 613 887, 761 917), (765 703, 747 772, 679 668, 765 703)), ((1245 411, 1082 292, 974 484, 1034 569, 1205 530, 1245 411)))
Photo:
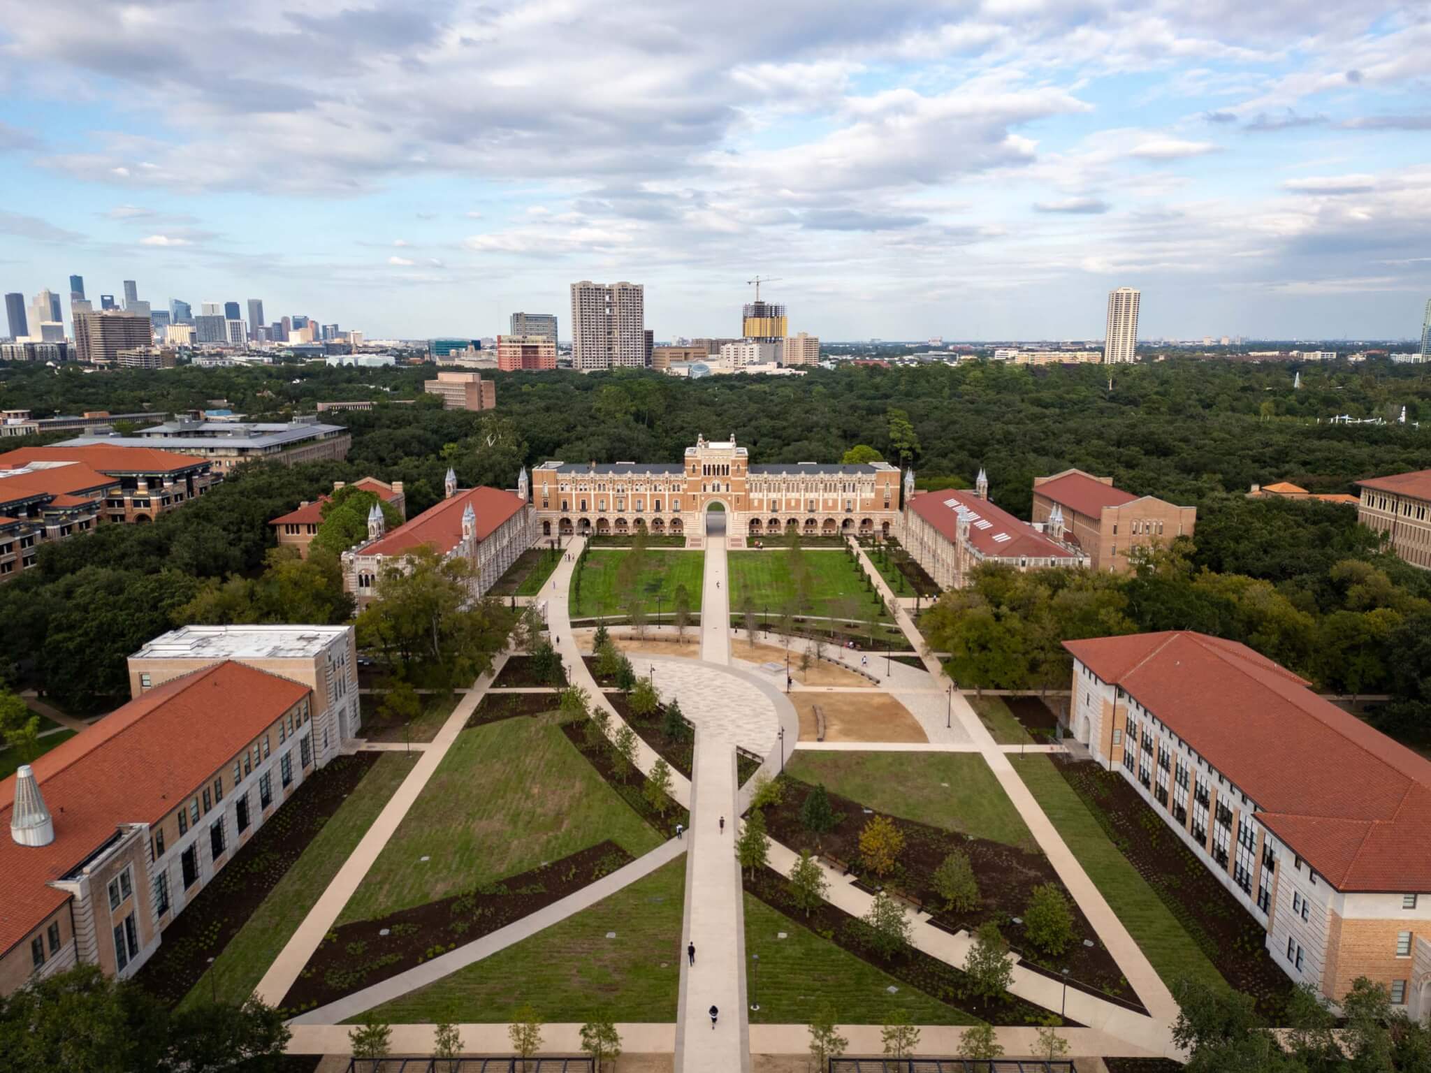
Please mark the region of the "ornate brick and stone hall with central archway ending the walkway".
POLYGON ((804 536, 889 535, 899 526, 899 469, 887 462, 753 465, 731 435, 700 436, 683 462, 550 461, 532 471, 544 538, 645 529, 700 548, 713 504, 726 508, 720 525, 731 548, 790 529, 804 536))

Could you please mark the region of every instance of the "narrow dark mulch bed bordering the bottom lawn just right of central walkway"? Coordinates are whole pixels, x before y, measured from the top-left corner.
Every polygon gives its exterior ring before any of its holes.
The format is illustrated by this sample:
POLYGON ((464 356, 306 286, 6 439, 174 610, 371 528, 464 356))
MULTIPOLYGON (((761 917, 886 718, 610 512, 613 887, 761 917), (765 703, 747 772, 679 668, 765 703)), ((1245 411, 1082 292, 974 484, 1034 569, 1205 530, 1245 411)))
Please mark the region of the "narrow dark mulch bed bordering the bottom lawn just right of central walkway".
MULTIPOLYGON (((806 916, 804 910, 790 898, 790 893, 786 890, 786 877, 774 868, 757 870, 754 880, 750 878, 748 871, 743 870, 741 883, 750 894, 784 913, 797 924, 803 924, 861 961, 869 961, 876 969, 889 973, 896 980, 903 980, 910 987, 917 987, 946 1006, 972 1013, 990 1024, 1045 1024, 1049 1019, 1058 1021, 1058 1017, 1042 1006, 1026 1003, 1007 991, 1003 993, 1002 1001, 966 994, 967 977, 963 970, 954 969, 923 950, 907 947, 904 953, 893 957, 871 950, 864 940, 864 921, 851 917, 843 908, 836 908, 829 901, 821 901, 819 908, 806 916)), ((1063 1021, 1063 1024, 1073 1024, 1073 1021, 1063 1021)))

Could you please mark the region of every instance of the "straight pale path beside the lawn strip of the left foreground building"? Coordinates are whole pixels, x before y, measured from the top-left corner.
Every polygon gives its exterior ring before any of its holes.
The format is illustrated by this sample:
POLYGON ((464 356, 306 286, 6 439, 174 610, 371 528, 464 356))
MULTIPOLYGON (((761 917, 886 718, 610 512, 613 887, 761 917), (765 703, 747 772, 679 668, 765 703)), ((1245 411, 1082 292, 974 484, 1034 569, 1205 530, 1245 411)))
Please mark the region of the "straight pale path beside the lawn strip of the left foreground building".
POLYGON ((259 986, 253 990, 255 997, 269 1006, 278 1006, 283 1001, 283 996, 288 994, 293 981, 298 980, 298 974, 303 971, 308 959, 318 950, 318 944, 323 941, 323 936, 332 929, 338 920, 338 914, 343 911, 348 898, 358 890, 358 884, 362 883, 372 863, 378 860, 378 854, 382 853, 388 840, 392 838, 398 830, 398 824, 402 823, 412 803, 418 800, 428 780, 432 778, 432 773, 436 771, 438 764, 442 763, 442 757, 446 755, 452 743, 456 741, 456 735, 477 710, 487 687, 501 674, 505 662, 507 654, 504 652, 497 658, 492 670, 477 680, 471 692, 458 701, 458 705, 448 715, 436 737, 422 751, 418 763, 412 765, 412 771, 402 780, 402 785, 398 787, 396 793, 388 800, 388 804, 378 813, 378 818, 372 821, 368 833, 363 834, 353 851, 348 854, 343 867, 333 876, 328 888, 313 903, 308 916, 303 917, 303 923, 298 926, 298 930, 273 960, 273 964, 269 966, 263 979, 259 980, 259 986))

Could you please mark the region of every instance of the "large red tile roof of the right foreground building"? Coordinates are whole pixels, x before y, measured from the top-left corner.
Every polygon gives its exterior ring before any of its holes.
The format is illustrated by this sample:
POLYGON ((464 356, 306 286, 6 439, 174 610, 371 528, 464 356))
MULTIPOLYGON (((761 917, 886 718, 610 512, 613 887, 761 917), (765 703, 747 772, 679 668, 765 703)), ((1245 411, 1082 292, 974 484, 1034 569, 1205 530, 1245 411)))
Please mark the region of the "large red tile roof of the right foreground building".
POLYGON ((1431 761, 1246 645, 1195 632, 1065 641, 1344 891, 1431 890, 1431 761))

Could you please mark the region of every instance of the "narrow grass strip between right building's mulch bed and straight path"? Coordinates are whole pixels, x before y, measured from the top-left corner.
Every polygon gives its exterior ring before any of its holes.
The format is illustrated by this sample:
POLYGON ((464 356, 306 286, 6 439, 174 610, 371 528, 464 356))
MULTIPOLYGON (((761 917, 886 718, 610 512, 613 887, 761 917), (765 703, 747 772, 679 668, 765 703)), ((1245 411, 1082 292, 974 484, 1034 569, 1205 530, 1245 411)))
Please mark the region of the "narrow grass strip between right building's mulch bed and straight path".
POLYGON ((1098 820, 1053 767, 1053 761, 1043 754, 1010 755, 1009 761, 1162 981, 1173 987, 1179 977, 1186 976, 1215 987, 1226 987, 1216 966, 1109 841, 1098 820))

